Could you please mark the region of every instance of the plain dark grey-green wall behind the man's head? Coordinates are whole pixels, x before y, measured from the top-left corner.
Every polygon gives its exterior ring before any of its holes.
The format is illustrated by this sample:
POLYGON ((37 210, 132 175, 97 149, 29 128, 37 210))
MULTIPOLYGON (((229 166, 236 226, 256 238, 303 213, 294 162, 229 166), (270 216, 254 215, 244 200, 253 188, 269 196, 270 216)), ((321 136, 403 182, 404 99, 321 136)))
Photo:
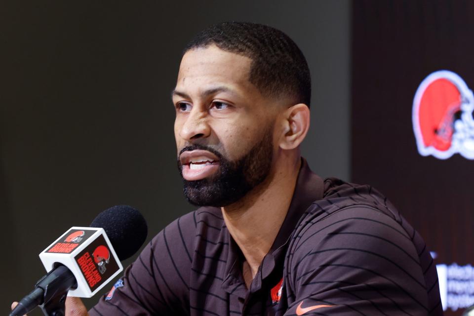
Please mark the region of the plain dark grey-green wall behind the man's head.
POLYGON ((187 41, 226 20, 269 24, 301 47, 313 76, 303 155, 321 176, 350 177, 349 0, 1 1, 2 314, 33 289, 38 254, 71 226, 130 204, 150 239, 193 210, 170 92, 187 41))

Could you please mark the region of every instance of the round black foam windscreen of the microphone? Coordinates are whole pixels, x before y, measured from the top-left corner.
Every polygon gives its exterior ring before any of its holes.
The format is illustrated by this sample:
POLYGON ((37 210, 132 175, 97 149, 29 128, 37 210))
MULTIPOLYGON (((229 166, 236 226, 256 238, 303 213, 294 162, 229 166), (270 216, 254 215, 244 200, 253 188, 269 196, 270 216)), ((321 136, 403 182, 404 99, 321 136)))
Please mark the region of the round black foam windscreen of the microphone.
POLYGON ((128 205, 117 205, 106 209, 97 215, 90 227, 105 230, 120 261, 133 256, 148 235, 145 218, 128 205))

